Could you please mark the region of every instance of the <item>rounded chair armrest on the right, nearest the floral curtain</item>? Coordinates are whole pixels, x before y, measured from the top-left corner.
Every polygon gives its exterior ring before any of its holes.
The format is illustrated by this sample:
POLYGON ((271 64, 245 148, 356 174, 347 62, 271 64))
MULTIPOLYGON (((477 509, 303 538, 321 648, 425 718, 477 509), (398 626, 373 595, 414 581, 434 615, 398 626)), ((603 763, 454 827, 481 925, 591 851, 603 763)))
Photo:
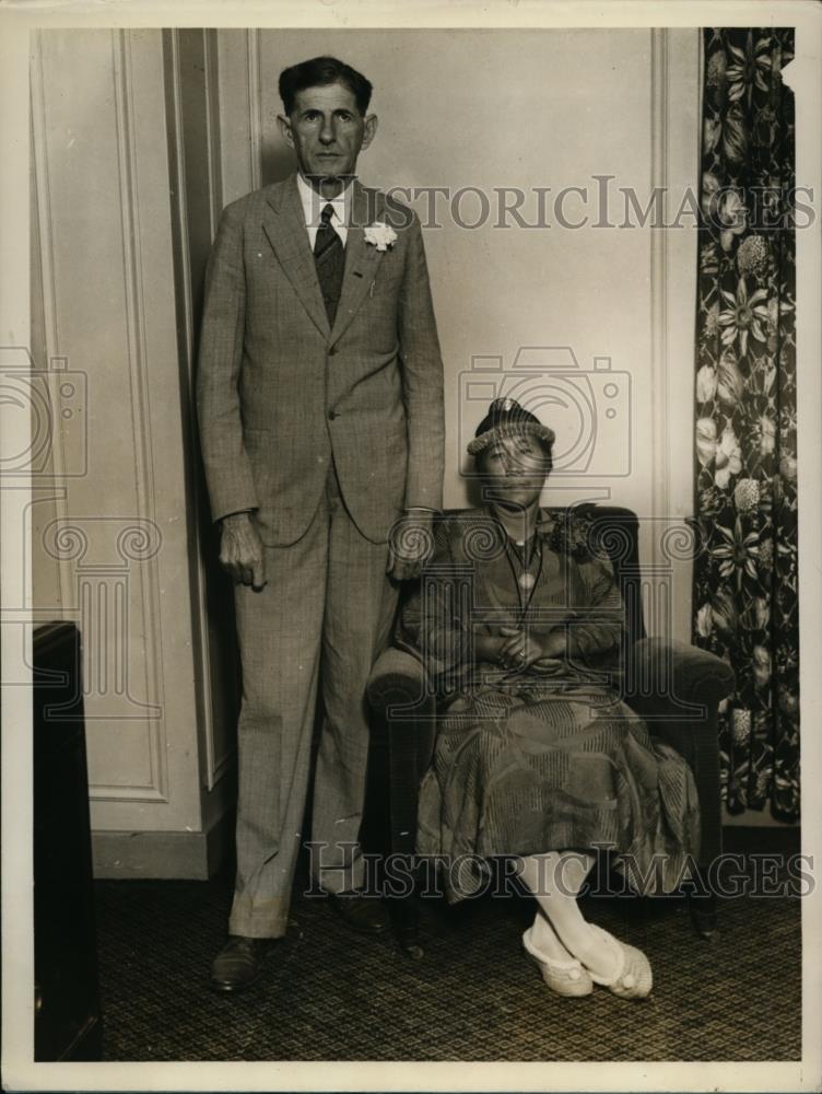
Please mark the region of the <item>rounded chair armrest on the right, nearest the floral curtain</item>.
POLYGON ((707 650, 668 638, 644 638, 631 650, 626 694, 645 713, 682 721, 701 720, 733 690, 733 670, 707 650))

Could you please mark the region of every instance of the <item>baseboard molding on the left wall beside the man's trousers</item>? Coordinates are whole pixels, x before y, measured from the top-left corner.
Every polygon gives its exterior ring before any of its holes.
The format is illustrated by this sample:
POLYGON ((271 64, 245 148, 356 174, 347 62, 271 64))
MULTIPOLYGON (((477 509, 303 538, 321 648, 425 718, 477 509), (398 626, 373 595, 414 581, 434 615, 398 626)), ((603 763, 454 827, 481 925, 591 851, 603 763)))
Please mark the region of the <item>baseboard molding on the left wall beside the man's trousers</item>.
POLYGON ((225 862, 233 836, 233 811, 207 831, 94 831, 94 876, 208 881, 225 862))

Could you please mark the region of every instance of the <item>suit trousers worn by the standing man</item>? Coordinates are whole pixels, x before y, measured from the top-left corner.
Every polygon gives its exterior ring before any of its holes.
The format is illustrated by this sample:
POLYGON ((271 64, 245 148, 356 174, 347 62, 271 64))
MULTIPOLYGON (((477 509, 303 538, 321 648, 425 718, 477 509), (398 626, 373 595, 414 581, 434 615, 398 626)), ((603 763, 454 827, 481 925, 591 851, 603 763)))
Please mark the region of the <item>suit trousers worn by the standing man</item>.
POLYGON ((332 468, 303 538, 265 551, 267 584, 235 591, 243 703, 237 876, 228 930, 251 938, 285 933, 318 682, 325 717, 312 819, 316 876, 334 893, 362 885, 365 686, 397 604, 386 575, 388 545, 373 544, 357 531, 332 468))

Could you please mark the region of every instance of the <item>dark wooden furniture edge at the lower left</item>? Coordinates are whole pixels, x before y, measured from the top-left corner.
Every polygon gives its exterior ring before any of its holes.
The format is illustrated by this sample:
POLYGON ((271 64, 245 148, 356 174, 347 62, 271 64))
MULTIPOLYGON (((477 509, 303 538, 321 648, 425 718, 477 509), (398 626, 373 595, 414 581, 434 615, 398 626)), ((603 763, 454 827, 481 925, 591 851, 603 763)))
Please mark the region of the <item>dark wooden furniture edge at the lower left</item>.
POLYGON ((34 633, 34 1058, 98 1060, 89 779, 74 624, 34 633))

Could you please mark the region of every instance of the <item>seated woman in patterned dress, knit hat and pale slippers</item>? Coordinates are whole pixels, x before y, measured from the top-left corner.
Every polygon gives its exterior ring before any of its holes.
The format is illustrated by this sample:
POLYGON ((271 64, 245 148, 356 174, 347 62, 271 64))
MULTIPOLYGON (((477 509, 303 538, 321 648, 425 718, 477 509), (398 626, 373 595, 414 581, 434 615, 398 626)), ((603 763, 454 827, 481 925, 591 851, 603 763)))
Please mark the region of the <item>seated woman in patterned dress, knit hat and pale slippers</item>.
POLYGON ((517 857, 538 904, 522 944, 544 982, 635 999, 651 989, 647 957, 586 921, 577 895, 600 849, 646 891, 680 882, 698 851, 696 788, 620 700, 610 561, 580 522, 539 507, 553 439, 514 400, 491 404, 468 450, 486 504, 439 524, 426 591, 400 620, 441 701, 418 852, 462 857, 449 900, 480 887, 478 859, 517 857))

